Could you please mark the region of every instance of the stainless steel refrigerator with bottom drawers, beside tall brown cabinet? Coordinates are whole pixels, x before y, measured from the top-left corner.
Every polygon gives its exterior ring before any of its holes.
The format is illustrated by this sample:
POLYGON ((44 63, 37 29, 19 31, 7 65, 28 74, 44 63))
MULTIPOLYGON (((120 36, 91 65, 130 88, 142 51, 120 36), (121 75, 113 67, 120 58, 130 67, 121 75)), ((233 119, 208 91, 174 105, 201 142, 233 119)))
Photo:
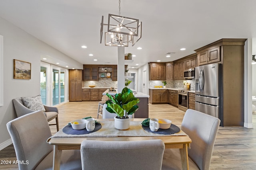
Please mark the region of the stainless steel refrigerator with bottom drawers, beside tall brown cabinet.
POLYGON ((196 110, 220 117, 220 64, 195 68, 196 110))

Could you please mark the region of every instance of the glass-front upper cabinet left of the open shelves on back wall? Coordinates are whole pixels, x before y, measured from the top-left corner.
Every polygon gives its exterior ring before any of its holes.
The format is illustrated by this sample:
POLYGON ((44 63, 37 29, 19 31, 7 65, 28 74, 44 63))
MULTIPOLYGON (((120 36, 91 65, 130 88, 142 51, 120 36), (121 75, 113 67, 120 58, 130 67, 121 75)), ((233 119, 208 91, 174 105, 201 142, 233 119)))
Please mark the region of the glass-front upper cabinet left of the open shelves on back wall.
POLYGON ((99 80, 98 66, 84 65, 83 80, 99 80))

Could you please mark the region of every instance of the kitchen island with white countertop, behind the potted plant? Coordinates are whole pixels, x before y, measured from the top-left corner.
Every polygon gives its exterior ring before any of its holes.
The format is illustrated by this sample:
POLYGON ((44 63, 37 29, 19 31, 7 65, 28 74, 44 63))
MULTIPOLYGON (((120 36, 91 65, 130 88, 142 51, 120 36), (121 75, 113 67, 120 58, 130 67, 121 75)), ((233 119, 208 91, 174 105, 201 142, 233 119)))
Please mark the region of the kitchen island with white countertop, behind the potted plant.
MULTIPOLYGON (((140 102, 138 103, 139 108, 134 114, 134 118, 148 118, 149 95, 141 92, 134 92, 134 90, 132 90, 132 92, 134 97, 140 100, 140 102)), ((102 93, 102 95, 106 95, 107 93, 114 96, 117 93, 117 89, 115 92, 110 92, 109 89, 107 89, 105 92, 102 93)))

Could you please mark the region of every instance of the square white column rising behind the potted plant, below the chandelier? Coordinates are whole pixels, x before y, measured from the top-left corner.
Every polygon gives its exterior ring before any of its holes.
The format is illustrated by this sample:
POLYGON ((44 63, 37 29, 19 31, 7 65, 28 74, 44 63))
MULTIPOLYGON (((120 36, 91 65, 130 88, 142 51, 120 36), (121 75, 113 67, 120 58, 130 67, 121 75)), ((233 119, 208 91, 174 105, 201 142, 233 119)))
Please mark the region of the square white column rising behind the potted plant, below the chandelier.
POLYGON ((124 78, 124 47, 118 47, 118 59, 117 59, 117 90, 121 93, 125 84, 124 78))

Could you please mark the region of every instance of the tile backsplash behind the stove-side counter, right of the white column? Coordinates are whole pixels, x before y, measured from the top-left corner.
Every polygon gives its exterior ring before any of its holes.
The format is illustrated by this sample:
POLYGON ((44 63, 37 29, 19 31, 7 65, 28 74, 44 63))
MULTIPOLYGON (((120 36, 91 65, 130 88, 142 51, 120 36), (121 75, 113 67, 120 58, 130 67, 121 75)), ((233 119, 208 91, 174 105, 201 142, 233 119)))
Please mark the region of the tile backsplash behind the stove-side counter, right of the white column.
MULTIPOLYGON (((183 80, 166 80, 166 82, 166 88, 184 88, 183 80)), ((195 80, 186 80, 186 82, 190 83, 190 90, 195 90, 195 80)), ((154 88, 154 86, 163 86, 162 80, 150 80, 149 88, 154 88)))

